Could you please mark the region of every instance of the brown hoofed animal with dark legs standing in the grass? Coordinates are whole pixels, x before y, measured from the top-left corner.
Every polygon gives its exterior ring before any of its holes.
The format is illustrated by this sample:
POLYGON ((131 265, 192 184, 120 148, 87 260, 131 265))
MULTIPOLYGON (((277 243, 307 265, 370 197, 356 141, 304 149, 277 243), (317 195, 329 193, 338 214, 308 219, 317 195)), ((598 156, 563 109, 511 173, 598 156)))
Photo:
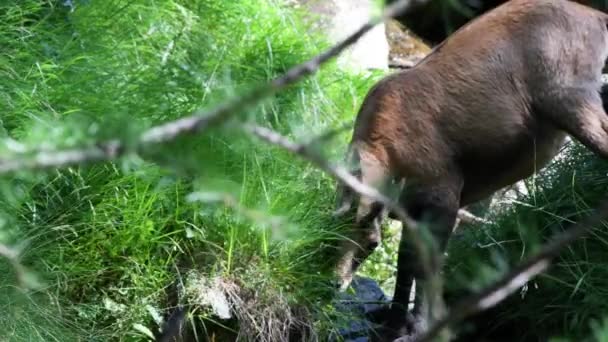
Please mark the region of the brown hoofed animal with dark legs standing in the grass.
MULTIPOLYGON (((566 135, 608 157, 599 93, 607 24, 607 15, 565 0, 498 6, 369 91, 347 163, 363 183, 396 192, 445 250, 459 208, 541 169, 566 135)), ((338 193, 339 213, 357 202, 347 188, 338 193)), ((358 198, 356 232, 343 242, 337 267, 343 288, 380 242, 385 215, 380 203, 358 198)), ((393 302, 383 315, 392 337, 416 334, 405 317, 413 280, 424 281, 419 265, 404 235, 393 302)), ((413 315, 420 315, 419 300, 413 315)))

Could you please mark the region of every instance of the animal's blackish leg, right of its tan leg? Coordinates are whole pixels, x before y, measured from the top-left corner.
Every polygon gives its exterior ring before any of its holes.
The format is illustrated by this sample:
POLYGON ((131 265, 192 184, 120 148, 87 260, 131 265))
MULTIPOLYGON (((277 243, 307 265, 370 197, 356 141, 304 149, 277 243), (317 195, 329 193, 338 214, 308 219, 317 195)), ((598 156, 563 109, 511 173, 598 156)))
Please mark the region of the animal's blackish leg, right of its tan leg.
POLYGON ((431 323, 429 320, 433 321, 443 313, 441 289, 437 288, 433 281, 434 277, 439 275, 443 253, 456 222, 461 189, 461 179, 452 174, 450 178, 443 179, 436 185, 404 190, 401 202, 408 214, 417 223, 417 229, 427 227, 434 240, 435 248, 430 250, 434 262, 427 265, 431 271, 428 278, 415 246, 412 245, 407 233, 405 231, 402 233, 397 261, 397 281, 391 306, 373 314, 373 320, 383 325, 382 336, 378 341, 392 341, 402 336, 415 337, 431 323), (409 312, 410 291, 414 280, 416 296, 414 308, 409 312))

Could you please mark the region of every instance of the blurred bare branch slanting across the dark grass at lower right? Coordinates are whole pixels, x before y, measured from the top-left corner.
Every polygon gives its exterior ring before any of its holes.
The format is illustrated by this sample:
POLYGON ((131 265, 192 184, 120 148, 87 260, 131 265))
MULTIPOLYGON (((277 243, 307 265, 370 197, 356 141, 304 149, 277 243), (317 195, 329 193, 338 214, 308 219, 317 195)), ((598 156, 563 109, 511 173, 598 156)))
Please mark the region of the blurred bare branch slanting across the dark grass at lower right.
POLYGON ((500 303, 530 279, 544 272, 564 248, 568 247, 578 238, 586 235, 590 227, 600 224, 607 216, 608 201, 602 203, 593 215, 572 225, 571 228, 559 234, 535 256, 513 268, 494 284, 454 305, 452 310, 442 319, 431 325, 428 331, 416 341, 431 341, 449 325, 500 303))

